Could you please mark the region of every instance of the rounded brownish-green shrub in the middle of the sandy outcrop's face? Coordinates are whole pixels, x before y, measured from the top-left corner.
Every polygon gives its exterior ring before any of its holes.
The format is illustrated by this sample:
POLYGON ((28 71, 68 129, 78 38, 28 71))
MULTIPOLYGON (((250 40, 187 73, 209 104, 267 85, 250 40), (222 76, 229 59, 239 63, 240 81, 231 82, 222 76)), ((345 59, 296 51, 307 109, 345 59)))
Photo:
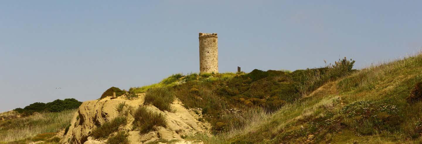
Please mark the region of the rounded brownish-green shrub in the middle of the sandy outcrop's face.
POLYGON ((134 128, 139 128, 141 134, 148 133, 154 126, 166 127, 166 118, 161 113, 155 113, 148 110, 145 106, 140 106, 134 114, 134 128))

